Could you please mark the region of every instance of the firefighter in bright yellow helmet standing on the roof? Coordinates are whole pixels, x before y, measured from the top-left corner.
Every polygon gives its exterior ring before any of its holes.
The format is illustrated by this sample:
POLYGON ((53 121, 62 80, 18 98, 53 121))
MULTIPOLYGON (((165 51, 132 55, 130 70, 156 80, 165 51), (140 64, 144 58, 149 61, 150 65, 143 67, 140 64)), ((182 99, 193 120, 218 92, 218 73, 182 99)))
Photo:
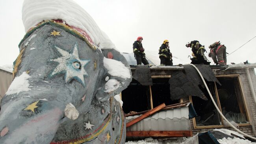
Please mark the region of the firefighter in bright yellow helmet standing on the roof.
POLYGON ((163 44, 161 45, 161 47, 159 48, 159 58, 160 58, 160 65, 173 65, 173 54, 170 52, 169 49, 169 41, 168 40, 164 40, 163 44))

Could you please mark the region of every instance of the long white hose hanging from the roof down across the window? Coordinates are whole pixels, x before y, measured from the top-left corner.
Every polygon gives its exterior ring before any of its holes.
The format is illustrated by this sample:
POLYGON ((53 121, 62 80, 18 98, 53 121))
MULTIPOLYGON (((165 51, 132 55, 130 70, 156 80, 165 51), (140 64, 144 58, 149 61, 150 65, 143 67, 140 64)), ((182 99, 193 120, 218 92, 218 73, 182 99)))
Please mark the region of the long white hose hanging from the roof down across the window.
POLYGON ((197 70, 198 74, 199 74, 200 77, 202 78, 202 81, 204 82, 204 85, 205 85, 205 87, 206 87, 206 89, 207 89, 207 91, 208 91, 208 93, 209 93, 209 95, 210 95, 210 97, 211 97, 211 101, 213 102, 215 108, 218 110, 218 112, 219 112, 219 114, 221 115, 221 117, 223 117, 223 119, 229 124, 229 126, 231 126, 232 128, 234 128, 234 129, 235 129, 236 131, 238 131, 239 133, 241 133, 241 134, 243 134, 243 135, 245 135, 245 136, 247 136, 247 137, 249 137, 249 138, 251 138, 251 139, 256 140, 255 137, 252 137, 252 136, 250 136, 250 135, 247 135, 247 134, 244 133, 243 131, 238 130, 235 126, 233 126, 233 125, 226 119, 226 117, 224 117, 224 115, 223 115, 223 114, 221 113, 221 111, 219 110, 217 104, 215 103, 215 101, 214 101, 214 99, 213 99, 213 97, 212 97, 212 95, 211 95, 211 92, 210 92, 208 86, 206 85, 206 82, 204 81, 204 77, 202 76, 201 72, 198 70, 198 68, 197 68, 195 65, 193 65, 193 64, 191 64, 191 63, 189 63, 189 65, 192 65, 192 66, 197 70))

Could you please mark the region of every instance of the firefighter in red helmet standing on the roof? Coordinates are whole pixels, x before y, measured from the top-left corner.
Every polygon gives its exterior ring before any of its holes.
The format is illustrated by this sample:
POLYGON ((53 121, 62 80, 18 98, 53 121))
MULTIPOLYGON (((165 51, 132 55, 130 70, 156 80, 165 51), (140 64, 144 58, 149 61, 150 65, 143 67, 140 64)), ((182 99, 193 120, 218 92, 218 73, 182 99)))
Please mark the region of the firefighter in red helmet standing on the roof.
POLYGON ((141 65, 141 62, 144 65, 148 65, 148 61, 146 59, 146 54, 144 53, 144 48, 142 46, 141 41, 143 40, 143 38, 141 36, 139 36, 137 38, 137 41, 134 41, 133 44, 133 49, 134 49, 134 57, 137 61, 137 65, 141 65))

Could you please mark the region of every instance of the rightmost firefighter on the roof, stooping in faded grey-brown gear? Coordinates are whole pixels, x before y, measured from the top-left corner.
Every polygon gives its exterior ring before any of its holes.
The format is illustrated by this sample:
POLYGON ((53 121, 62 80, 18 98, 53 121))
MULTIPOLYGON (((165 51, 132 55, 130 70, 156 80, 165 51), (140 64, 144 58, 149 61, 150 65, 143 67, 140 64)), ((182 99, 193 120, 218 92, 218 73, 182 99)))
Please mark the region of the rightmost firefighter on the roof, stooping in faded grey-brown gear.
POLYGON ((208 56, 212 58, 216 65, 227 64, 226 47, 224 45, 221 45, 220 41, 216 41, 215 43, 209 45, 209 49, 210 53, 208 56))

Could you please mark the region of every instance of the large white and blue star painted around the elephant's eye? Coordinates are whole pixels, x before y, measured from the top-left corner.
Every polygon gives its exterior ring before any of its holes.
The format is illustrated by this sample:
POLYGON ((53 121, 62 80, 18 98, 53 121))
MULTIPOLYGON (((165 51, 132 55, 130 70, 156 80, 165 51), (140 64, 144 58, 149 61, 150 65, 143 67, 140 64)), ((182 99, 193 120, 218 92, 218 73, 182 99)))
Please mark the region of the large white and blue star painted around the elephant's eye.
POLYGON ((59 58, 50 59, 50 61, 58 62, 59 65, 52 71, 52 76, 64 73, 65 74, 65 82, 68 83, 72 79, 76 79, 83 86, 85 86, 83 76, 88 76, 84 67, 89 63, 89 59, 80 59, 78 56, 78 50, 76 44, 74 45, 73 53, 60 49, 59 47, 55 47, 58 52, 61 54, 59 58))

